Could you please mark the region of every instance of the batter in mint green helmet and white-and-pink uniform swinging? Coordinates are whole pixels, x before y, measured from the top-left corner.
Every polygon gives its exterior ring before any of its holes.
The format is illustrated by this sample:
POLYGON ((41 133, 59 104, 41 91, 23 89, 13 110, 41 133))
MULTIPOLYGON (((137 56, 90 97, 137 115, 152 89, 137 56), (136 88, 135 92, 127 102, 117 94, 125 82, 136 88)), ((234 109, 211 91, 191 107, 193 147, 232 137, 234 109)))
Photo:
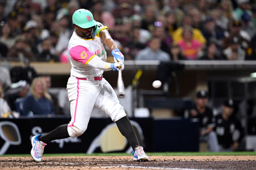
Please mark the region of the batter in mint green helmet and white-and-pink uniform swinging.
POLYGON ((133 160, 148 161, 148 156, 138 142, 124 107, 119 104, 113 88, 102 77, 104 70, 123 70, 124 55, 108 33, 108 27, 96 22, 90 11, 75 11, 72 21, 75 30, 68 43, 72 67, 67 84, 71 121, 47 134, 33 136, 33 159, 41 161, 44 146, 52 140, 82 135, 87 129, 92 108, 96 106, 116 122, 121 134, 132 146, 133 160), (103 45, 112 50, 115 63, 105 62, 107 55, 103 45))

